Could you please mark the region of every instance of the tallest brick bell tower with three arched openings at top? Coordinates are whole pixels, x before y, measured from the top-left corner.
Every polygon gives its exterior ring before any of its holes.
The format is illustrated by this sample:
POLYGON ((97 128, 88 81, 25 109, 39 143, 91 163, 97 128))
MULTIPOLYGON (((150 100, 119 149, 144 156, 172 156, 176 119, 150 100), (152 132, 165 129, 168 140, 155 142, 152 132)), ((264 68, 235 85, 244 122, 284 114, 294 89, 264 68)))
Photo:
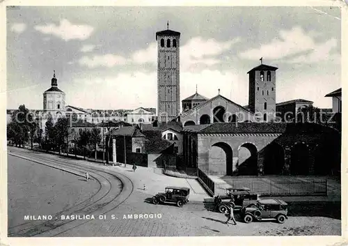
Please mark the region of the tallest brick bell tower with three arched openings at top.
POLYGON ((180 33, 157 31, 157 116, 168 122, 180 114, 180 33))

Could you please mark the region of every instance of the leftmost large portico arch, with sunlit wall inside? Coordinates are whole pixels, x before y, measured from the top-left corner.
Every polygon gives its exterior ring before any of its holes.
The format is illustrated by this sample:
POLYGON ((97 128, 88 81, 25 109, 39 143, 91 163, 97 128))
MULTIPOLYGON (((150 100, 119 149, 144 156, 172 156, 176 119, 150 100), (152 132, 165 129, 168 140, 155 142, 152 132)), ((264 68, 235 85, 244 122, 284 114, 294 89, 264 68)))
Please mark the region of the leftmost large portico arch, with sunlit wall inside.
POLYGON ((209 170, 211 175, 232 175, 233 151, 224 142, 212 144, 209 148, 209 170))

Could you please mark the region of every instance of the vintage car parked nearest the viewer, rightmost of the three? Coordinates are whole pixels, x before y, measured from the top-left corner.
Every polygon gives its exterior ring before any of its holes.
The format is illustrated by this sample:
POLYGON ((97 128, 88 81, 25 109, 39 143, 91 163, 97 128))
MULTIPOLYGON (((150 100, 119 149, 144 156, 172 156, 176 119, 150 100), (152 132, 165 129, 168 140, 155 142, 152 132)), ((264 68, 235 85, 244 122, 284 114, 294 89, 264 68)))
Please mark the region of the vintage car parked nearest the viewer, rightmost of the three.
POLYGON ((253 220, 276 219, 283 224, 287 220, 287 203, 280 199, 260 199, 256 204, 250 204, 242 210, 244 222, 253 220))

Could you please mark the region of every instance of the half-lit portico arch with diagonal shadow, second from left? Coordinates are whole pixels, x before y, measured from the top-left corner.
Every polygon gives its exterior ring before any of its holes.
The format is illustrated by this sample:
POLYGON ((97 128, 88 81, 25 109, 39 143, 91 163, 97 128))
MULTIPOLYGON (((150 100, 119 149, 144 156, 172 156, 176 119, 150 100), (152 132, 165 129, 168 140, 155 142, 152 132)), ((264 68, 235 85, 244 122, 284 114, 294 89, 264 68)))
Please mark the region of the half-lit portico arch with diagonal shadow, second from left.
POLYGON ((238 174, 258 175, 258 148, 251 142, 238 147, 238 174))

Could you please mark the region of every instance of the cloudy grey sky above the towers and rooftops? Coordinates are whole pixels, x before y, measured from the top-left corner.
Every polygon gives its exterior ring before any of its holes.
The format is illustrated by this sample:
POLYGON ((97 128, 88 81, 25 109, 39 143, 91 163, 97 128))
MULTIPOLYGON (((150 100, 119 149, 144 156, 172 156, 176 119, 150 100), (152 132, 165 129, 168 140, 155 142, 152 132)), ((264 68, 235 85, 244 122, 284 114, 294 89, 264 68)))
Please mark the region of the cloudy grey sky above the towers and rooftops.
POLYGON ((248 104, 247 72, 278 68, 276 102, 331 108, 341 87, 337 7, 18 7, 7 15, 7 108, 42 109, 56 70, 65 105, 157 107, 155 33, 179 31, 180 100, 248 104))

